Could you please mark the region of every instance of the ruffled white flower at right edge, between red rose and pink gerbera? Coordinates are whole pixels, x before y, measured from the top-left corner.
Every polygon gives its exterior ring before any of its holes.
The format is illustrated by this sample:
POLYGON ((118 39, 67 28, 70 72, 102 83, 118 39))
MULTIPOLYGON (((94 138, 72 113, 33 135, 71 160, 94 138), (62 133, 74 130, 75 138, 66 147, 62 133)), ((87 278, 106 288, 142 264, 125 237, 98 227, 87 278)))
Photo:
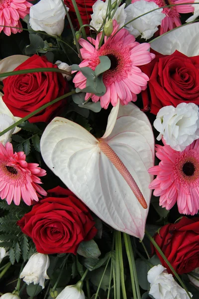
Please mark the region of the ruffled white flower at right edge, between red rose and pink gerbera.
POLYGON ((181 103, 176 108, 161 108, 153 123, 172 149, 182 151, 199 138, 199 108, 194 103, 181 103))

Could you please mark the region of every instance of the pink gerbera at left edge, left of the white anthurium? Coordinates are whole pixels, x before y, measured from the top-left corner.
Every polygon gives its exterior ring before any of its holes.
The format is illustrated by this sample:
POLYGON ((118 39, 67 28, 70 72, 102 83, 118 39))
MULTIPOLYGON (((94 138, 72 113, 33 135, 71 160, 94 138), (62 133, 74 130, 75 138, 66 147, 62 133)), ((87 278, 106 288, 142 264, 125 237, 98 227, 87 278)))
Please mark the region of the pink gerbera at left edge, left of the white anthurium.
POLYGON ((38 201, 39 193, 47 195, 38 176, 46 175, 46 170, 38 167, 39 164, 27 163, 23 151, 13 152, 12 144, 0 143, 0 198, 10 204, 12 199, 19 205, 20 199, 27 205, 32 200, 38 201))

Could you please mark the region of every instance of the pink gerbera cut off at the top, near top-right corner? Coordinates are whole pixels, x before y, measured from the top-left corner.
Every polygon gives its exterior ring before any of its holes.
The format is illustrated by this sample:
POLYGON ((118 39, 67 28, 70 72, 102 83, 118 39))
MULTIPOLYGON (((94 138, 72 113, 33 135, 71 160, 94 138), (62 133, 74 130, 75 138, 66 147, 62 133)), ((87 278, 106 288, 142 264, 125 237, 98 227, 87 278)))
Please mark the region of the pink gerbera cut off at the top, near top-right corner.
MULTIPOLYGON (((134 3, 139 0, 132 0, 131 3, 134 3)), ((149 2, 155 2, 159 7, 171 5, 171 4, 180 4, 180 3, 194 3, 195 0, 146 0, 149 2)), ((166 14, 166 17, 162 20, 160 26, 160 35, 171 30, 175 27, 178 27, 181 24, 180 14, 179 13, 188 13, 193 12, 194 7, 192 4, 177 5, 171 7, 165 7, 162 10, 162 13, 166 14)))

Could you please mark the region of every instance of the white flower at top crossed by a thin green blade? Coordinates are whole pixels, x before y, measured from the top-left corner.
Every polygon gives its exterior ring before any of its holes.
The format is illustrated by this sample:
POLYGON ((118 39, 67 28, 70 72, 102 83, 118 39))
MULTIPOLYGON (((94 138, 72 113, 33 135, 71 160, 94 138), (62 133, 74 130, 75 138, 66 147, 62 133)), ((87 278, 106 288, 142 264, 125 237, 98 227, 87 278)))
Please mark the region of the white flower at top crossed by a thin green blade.
MULTIPOLYGON (((155 8, 158 8, 158 5, 155 4, 155 2, 148 2, 144 0, 136 1, 128 5, 124 9, 126 12, 125 23, 155 8)), ((165 16, 166 15, 162 13, 161 8, 139 17, 135 21, 126 25, 125 28, 135 37, 141 35, 142 38, 149 39, 158 30, 158 26, 161 24, 161 21, 165 16)))

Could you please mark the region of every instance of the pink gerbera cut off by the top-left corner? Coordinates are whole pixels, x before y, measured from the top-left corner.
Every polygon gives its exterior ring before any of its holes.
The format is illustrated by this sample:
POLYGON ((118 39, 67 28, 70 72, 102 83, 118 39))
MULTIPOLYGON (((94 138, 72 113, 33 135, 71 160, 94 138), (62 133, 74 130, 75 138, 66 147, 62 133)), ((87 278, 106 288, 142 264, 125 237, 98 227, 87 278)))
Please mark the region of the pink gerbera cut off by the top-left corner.
MULTIPOLYGON (((32 4, 26 0, 0 0, 0 25, 22 27, 19 18, 24 18, 29 13, 29 7, 32 4)), ((2 27, 0 32, 3 31, 6 35, 21 32, 21 29, 2 27)))

